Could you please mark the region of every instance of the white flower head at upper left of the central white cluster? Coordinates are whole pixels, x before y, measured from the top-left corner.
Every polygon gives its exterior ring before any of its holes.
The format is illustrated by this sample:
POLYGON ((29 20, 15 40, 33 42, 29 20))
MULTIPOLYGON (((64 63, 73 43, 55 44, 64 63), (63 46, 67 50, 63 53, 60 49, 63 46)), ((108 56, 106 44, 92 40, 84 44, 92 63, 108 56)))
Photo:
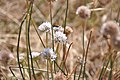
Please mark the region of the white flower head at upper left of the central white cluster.
POLYGON ((49 32, 51 30, 51 23, 50 22, 44 22, 38 27, 38 29, 41 32, 49 32))

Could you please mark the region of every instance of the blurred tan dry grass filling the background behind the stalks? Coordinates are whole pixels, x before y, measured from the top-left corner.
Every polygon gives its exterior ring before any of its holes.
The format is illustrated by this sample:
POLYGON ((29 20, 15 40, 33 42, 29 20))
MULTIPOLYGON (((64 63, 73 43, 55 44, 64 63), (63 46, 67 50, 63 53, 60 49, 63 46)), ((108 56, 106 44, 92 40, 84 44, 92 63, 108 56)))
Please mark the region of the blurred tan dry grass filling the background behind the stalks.
MULTIPOLYGON (((53 23, 57 25, 63 25, 64 21, 64 14, 66 10, 66 0, 58 0, 56 2, 52 3, 52 13, 53 13, 53 23)), ((100 0, 69 0, 69 9, 68 9, 68 18, 67 18, 67 25, 71 26, 73 29, 73 33, 68 36, 69 43, 73 42, 72 47, 70 48, 66 66, 68 69, 69 74, 72 74, 72 71, 74 73, 74 70, 76 70, 77 76, 79 73, 79 68, 76 67, 76 63, 80 61, 80 58, 82 58, 82 19, 78 15, 76 15, 76 9, 82 4, 87 4, 90 6, 91 9, 98 9, 103 8, 103 10, 95 10, 92 11, 91 18, 88 20, 86 25, 86 43, 88 42, 88 38, 90 35, 90 31, 92 30, 92 36, 91 36, 91 43, 88 51, 88 57, 87 57, 87 64, 86 64, 86 75, 87 80, 98 80, 100 71, 103 67, 103 63, 106 62, 109 59, 109 46, 106 42, 106 39, 102 37, 100 34, 100 28, 103 23, 103 16, 107 16, 106 20, 119 20, 119 8, 120 8, 120 2, 119 0, 111 0, 113 2, 101 4, 99 2, 100 0), (85 2, 86 1, 86 2, 85 2)), ((101 0, 101 1, 108 1, 108 0, 101 0)), ((10 52, 14 55, 14 59, 9 62, 7 65, 4 66, 1 62, 0 66, 0 78, 2 77, 6 80, 9 80, 10 78, 13 78, 13 75, 11 74, 9 70, 9 66, 14 67, 13 71, 15 75, 20 78, 20 72, 18 70, 17 66, 17 57, 16 57, 16 50, 17 50, 17 39, 18 39, 18 31, 19 31, 19 25, 21 23, 21 19, 23 17, 23 14, 25 13, 27 9, 26 1, 25 0, 0 0, 0 44, 5 46, 6 48, 10 50, 10 52), (4 71, 6 70, 6 71, 4 71), (19 73, 19 74, 18 74, 19 73), (8 79, 7 79, 8 78, 8 79)), ((35 23, 37 26, 39 26, 44 21, 50 21, 49 19, 49 3, 47 0, 35 0, 33 5, 33 13, 32 18, 35 20, 35 23)), ((20 53, 26 53, 26 29, 25 24, 23 24, 23 29, 21 33, 21 41, 20 41, 20 53)), ((45 34, 40 33, 40 36, 43 38, 43 41, 45 42, 45 34)), ((30 30, 30 41, 31 41, 31 49, 32 51, 42 51, 44 48, 42 47, 41 42, 39 41, 39 37, 36 34, 36 31, 31 25, 30 30)), ((51 43, 51 42, 49 42, 51 43)), ((85 47, 87 47, 87 44, 85 43, 85 47)), ((51 46, 51 44, 49 44, 51 46)), ((57 46, 57 45, 55 45, 57 46)), ((0 51, 2 46, 0 46, 0 51)), ((60 45, 60 48, 62 48, 62 45, 60 45)), ((61 62, 62 59, 62 50, 59 52, 60 58, 59 61, 61 62)), ((115 54, 115 52, 113 52, 115 54)), ((9 54, 9 51, 8 51, 9 54)), ((1 54, 0 54, 1 56, 1 54)), ((113 67, 113 78, 112 80, 119 80, 120 79, 120 53, 117 53, 117 55, 114 55, 113 58, 115 58, 114 67, 113 67)), ((60 62, 58 61, 58 64, 60 62)), ((42 61, 39 62, 41 71, 43 73, 46 73, 46 64, 42 61)), ((35 65, 35 68, 37 68, 37 65, 35 65)), ((108 73, 110 67, 108 66, 106 69, 106 72, 104 72, 104 76, 102 80, 108 79, 108 73)), ((27 70, 25 69, 25 72, 27 73, 27 70)), ((37 72, 36 72, 37 73, 37 72)), ((28 76, 28 74, 25 74, 25 76, 28 76)), ((38 80, 42 80, 42 75, 40 71, 38 70, 38 74, 36 74, 38 77, 38 80)), ((63 75, 63 73, 58 72, 55 76, 59 77, 59 80, 66 80, 63 75)), ((45 76, 46 77, 46 76, 45 76)), ((73 76, 70 76, 70 79, 73 80, 73 76)), ((14 80, 14 79, 13 79, 14 80)), ((27 79, 26 79, 27 80, 27 79)), ((33 79, 32 79, 33 80, 33 79)), ((55 80, 57 80, 55 78, 55 80)), ((77 80, 77 79, 75 79, 77 80)))

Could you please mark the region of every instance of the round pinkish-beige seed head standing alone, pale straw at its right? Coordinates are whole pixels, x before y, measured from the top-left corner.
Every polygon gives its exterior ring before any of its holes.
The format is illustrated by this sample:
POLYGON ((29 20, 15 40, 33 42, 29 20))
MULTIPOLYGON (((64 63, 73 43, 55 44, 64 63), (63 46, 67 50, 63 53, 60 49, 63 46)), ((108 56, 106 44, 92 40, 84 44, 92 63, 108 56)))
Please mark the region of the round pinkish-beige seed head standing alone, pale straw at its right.
POLYGON ((77 8, 76 14, 78 14, 82 19, 90 18, 91 10, 86 6, 80 6, 77 8))

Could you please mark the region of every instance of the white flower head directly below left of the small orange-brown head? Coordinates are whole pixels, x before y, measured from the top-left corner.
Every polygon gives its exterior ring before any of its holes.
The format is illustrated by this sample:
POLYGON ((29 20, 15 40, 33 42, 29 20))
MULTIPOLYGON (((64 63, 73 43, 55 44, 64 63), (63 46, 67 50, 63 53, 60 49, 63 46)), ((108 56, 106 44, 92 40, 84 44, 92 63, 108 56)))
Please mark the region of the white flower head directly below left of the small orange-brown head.
POLYGON ((56 42, 63 42, 63 43, 67 42, 66 35, 61 31, 55 32, 54 39, 55 39, 56 42))

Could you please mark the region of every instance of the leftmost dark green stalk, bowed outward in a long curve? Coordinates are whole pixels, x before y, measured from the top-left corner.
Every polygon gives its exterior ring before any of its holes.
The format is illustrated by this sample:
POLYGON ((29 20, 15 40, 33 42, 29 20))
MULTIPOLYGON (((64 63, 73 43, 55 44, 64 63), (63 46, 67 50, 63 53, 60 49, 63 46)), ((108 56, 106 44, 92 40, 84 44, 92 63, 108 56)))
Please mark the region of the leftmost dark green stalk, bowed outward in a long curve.
POLYGON ((27 15, 25 14, 24 17, 23 17, 23 20, 20 24, 20 29, 19 29, 19 34, 18 34, 18 42, 17 42, 17 61, 18 61, 18 66, 19 66, 19 69, 20 69, 20 73, 21 73, 21 76, 22 76, 22 79, 25 80, 24 78, 24 75, 22 73, 22 69, 21 69, 21 66, 20 66, 20 59, 19 59, 19 44, 20 44, 20 36, 21 36, 21 31, 22 31, 22 25, 26 19, 27 15))

